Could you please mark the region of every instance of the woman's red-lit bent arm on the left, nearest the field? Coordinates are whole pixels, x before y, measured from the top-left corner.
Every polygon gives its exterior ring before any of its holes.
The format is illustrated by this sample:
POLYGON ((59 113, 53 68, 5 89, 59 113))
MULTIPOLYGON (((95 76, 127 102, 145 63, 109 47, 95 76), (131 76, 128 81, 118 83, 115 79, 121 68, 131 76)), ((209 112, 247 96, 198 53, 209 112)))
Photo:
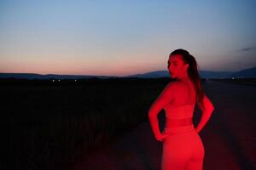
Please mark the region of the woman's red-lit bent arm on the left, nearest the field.
POLYGON ((164 90, 161 92, 161 94, 158 96, 158 98, 154 101, 154 103, 151 105, 151 107, 148 110, 148 119, 150 122, 150 126, 152 128, 152 131, 154 133, 154 138, 162 141, 163 136, 160 133, 160 127, 157 115, 159 112, 170 103, 170 101, 174 98, 174 88, 176 86, 175 82, 169 82, 164 88, 164 90))

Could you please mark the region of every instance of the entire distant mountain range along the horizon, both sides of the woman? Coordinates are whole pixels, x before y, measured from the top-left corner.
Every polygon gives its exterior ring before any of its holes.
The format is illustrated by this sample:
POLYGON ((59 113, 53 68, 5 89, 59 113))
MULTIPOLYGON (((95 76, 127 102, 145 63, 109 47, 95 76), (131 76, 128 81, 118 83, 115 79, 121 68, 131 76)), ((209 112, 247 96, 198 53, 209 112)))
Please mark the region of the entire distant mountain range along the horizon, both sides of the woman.
MULTIPOLYGON (((256 77, 256 67, 241 70, 241 71, 199 71, 201 78, 231 78, 241 77, 249 78, 256 77)), ((126 77, 138 78, 160 78, 170 77, 168 71, 151 71, 143 74, 135 74, 126 77)), ((54 75, 54 74, 31 74, 31 73, 0 73, 0 78, 15 78, 15 79, 80 79, 80 78, 116 78, 108 76, 88 76, 88 75, 54 75)))

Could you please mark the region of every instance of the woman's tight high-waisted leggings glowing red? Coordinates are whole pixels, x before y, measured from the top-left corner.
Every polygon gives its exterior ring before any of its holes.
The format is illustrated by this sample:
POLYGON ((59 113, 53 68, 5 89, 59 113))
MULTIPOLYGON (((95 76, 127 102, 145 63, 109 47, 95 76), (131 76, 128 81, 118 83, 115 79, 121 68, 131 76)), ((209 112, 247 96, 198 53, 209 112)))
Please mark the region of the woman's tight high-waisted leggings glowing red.
POLYGON ((202 170, 204 145, 194 125, 165 128, 162 170, 202 170))

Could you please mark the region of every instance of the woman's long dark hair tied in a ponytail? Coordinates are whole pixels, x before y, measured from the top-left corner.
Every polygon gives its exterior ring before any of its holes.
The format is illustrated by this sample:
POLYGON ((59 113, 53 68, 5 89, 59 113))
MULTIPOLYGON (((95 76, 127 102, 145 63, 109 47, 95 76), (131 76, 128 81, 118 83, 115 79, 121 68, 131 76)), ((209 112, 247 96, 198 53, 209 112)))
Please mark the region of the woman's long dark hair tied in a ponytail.
POLYGON ((173 54, 180 54, 183 57, 183 61, 184 63, 188 63, 189 64, 189 68, 188 68, 188 75, 190 80, 193 82, 194 84, 194 88, 195 88, 195 92, 196 92, 196 101, 199 105, 202 105, 203 102, 203 97, 204 97, 204 89, 201 85, 201 79, 200 76, 198 74, 198 70, 197 70, 197 63, 195 60, 195 57, 191 54, 189 54, 189 52, 187 50, 184 49, 176 49, 174 50, 170 55, 173 54))

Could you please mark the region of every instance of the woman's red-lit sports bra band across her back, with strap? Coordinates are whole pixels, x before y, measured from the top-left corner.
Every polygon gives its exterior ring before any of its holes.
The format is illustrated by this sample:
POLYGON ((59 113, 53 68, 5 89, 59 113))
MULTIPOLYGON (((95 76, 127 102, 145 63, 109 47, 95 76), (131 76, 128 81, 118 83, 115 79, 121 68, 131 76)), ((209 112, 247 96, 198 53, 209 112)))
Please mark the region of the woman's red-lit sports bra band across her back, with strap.
MULTIPOLYGON (((190 88, 189 88, 190 94, 190 88)), ((188 95, 189 99, 189 95, 188 95)), ((168 119, 183 119, 192 118, 195 110, 195 104, 190 105, 168 105, 165 109, 166 118, 168 119)))

